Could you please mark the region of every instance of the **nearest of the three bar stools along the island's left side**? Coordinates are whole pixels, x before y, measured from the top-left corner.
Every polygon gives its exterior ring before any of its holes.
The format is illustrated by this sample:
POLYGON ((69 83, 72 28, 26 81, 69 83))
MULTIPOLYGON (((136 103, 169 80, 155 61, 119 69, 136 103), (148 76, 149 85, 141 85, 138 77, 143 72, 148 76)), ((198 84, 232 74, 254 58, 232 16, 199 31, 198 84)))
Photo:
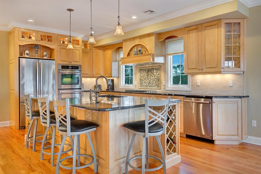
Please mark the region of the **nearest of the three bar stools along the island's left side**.
POLYGON ((56 124, 59 130, 59 133, 64 135, 64 139, 61 143, 61 147, 57 156, 57 162, 56 162, 56 174, 59 174, 59 166, 65 169, 73 169, 73 174, 75 174, 75 170, 79 169, 79 168, 84 168, 84 167, 88 167, 91 164, 94 163, 94 173, 97 173, 97 161, 96 161, 96 155, 95 155, 95 150, 93 147, 93 142, 92 139, 90 138, 90 134, 89 132, 91 131, 95 131, 96 128, 99 126, 96 123, 93 122, 89 122, 87 120, 67 120, 67 122, 64 122, 64 120, 66 120, 65 115, 68 117, 70 116, 70 105, 69 105, 69 99, 65 99, 65 100, 56 100, 55 97, 53 98, 53 106, 54 106, 54 110, 55 110, 55 116, 56 116, 56 124), (57 109, 57 106, 66 106, 63 110, 61 110, 60 112, 57 109), (64 113, 65 112, 65 113, 64 113), (62 114, 64 113, 64 114, 62 114), (62 122, 62 124, 60 125, 59 122, 62 122), (85 154, 80 154, 80 134, 86 133, 87 137, 88 137, 88 141, 90 143, 92 152, 93 152, 93 156, 90 155, 85 155, 85 154), (61 157, 61 152, 62 152, 62 148, 64 146, 66 137, 71 137, 72 135, 74 135, 74 142, 73 142, 73 155, 64 157, 63 159, 60 160, 61 157), (76 144, 78 144, 77 147, 77 151, 78 153, 76 154, 76 144), (85 156, 90 158, 92 161, 89 164, 80 166, 80 156, 85 156), (67 167, 61 164, 62 161, 73 157, 73 167, 67 167), (77 166, 76 167, 76 157, 77 157, 77 166))

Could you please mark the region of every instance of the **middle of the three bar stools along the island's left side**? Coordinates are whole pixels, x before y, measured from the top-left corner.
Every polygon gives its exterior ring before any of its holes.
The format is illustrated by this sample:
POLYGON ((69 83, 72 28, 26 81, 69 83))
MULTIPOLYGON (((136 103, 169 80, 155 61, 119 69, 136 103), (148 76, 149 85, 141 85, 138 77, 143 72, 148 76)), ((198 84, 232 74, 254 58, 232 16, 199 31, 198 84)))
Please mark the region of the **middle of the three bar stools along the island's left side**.
MULTIPOLYGON (((57 155, 58 153, 54 153, 54 147, 55 146, 60 146, 61 144, 55 144, 55 131, 56 131, 56 119, 55 119, 55 113, 50 111, 50 104, 49 104, 49 97, 39 97, 39 95, 37 96, 37 100, 38 100, 38 105, 39 105, 39 111, 40 111, 40 118, 41 118, 41 123, 43 126, 46 127, 45 133, 44 133, 44 137, 43 137, 43 141, 42 141, 42 145, 41 145, 41 160, 44 159, 44 154, 47 155, 51 155, 51 166, 54 166, 54 155, 57 155), (50 113, 53 113, 52 115, 50 113), (44 144, 46 142, 46 137, 47 137, 47 133, 48 131, 51 131, 52 134, 52 144, 50 146, 44 147, 44 144), (51 147, 51 153, 46 152, 47 148, 51 147)), ((66 118, 66 116, 65 116, 66 118)), ((75 120, 75 118, 70 117, 70 120, 75 120)), ((61 124, 61 122, 60 122, 61 124)), ((63 140, 63 135, 61 135, 61 142, 63 140)), ((67 151, 63 151, 61 154, 63 153, 67 153, 69 151, 72 150, 73 147, 73 138, 70 137, 71 139, 71 144, 65 144, 67 146, 71 146, 70 149, 68 149, 67 151)))

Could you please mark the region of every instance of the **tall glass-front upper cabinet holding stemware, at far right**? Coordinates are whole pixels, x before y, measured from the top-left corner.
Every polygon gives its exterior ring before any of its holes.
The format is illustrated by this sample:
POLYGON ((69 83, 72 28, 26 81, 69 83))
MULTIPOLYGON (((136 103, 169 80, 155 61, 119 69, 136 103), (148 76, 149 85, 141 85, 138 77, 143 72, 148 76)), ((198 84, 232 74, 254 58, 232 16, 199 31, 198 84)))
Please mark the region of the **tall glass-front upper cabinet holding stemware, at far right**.
POLYGON ((245 19, 221 20, 222 72, 246 71, 245 19))

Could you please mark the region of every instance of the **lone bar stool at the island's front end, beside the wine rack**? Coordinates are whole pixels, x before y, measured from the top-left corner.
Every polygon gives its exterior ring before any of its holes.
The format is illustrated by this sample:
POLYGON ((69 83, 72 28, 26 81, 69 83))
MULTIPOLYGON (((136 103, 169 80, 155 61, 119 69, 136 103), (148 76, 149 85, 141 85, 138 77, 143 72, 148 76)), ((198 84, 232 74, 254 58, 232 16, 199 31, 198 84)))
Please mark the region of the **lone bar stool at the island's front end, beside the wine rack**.
POLYGON ((164 157, 164 152, 162 149, 162 146, 160 144, 159 135, 166 133, 166 119, 167 119, 167 113, 168 113, 168 106, 169 106, 170 97, 166 100, 148 100, 145 99, 145 120, 141 121, 135 121, 135 122, 129 122, 123 124, 123 127, 126 128, 126 130, 133 133, 131 143, 128 148, 127 156, 126 156, 126 164, 125 164, 125 174, 128 174, 128 166, 131 168, 142 171, 142 174, 145 173, 145 171, 155 171, 163 166, 163 173, 166 174, 166 162, 164 157), (149 108, 149 106, 165 106, 164 110, 161 113, 157 113, 153 109, 149 108), (152 119, 148 120, 148 115, 152 117, 152 119), (155 121, 154 121, 155 120, 155 121), (163 126, 161 123, 163 123, 163 126), (142 135, 143 141, 142 141, 142 155, 138 155, 135 157, 132 157, 129 159, 130 152, 131 152, 131 146, 134 142, 136 135, 142 135), (160 153, 162 160, 158 157, 148 155, 148 137, 155 136, 157 139, 157 143, 160 148, 160 153), (146 143, 145 143, 146 140, 146 143), (145 145, 146 145, 146 155, 145 155, 145 145), (131 161, 142 157, 142 168, 137 168, 131 165, 131 161), (146 168, 145 169, 145 157, 146 157, 146 168), (156 168, 148 168, 148 158, 154 158, 156 160, 159 160, 161 162, 161 165, 156 168))

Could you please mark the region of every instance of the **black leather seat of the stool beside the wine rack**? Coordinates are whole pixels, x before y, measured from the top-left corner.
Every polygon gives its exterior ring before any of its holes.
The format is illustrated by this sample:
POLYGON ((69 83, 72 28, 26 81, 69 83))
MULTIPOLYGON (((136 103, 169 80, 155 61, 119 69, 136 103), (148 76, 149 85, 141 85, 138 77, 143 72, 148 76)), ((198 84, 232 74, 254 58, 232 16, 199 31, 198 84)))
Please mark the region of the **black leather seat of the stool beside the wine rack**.
MULTIPOLYGON (((154 123, 154 121, 149 122, 149 124, 154 123)), ((129 122, 123 124, 123 127, 131 129, 136 132, 145 133, 145 120, 136 121, 136 122, 129 122)), ((155 123, 152 126, 148 127, 148 133, 156 133, 163 130, 163 126, 160 123, 155 123)))

